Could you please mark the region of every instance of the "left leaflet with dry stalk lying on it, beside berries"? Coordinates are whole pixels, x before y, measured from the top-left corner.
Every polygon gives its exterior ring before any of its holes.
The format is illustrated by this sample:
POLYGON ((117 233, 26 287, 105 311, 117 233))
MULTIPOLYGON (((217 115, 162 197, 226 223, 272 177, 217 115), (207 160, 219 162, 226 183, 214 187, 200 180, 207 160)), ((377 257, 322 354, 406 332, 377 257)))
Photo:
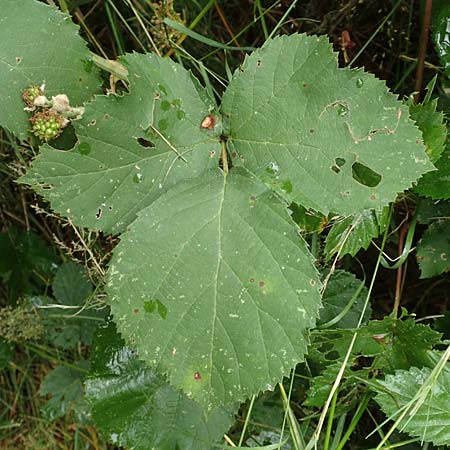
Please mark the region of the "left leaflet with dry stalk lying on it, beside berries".
POLYGON ((43 146, 21 179, 74 223, 114 233, 171 185, 217 166, 220 154, 220 124, 200 127, 214 105, 188 71, 151 54, 120 62, 130 94, 97 96, 74 123, 79 144, 43 146))

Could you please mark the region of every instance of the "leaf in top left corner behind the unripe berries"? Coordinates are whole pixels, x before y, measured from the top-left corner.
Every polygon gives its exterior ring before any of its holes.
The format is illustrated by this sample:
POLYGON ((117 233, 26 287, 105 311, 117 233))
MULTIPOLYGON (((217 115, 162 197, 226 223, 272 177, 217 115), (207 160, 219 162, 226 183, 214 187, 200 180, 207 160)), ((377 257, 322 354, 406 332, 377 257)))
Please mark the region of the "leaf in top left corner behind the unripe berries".
POLYGON ((79 105, 100 82, 67 15, 35 0, 1 0, 0 7, 0 125, 25 138, 30 122, 23 89, 45 83, 47 96, 66 94, 79 105))

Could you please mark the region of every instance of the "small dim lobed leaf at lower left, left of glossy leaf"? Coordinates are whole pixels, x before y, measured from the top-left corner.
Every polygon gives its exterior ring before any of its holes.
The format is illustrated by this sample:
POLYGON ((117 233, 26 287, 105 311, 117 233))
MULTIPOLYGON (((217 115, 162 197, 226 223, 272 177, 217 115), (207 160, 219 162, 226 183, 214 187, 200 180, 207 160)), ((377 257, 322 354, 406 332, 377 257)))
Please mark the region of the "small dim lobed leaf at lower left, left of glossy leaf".
POLYGON ((39 394, 51 398, 43 406, 42 414, 47 420, 55 420, 72 411, 76 420, 87 420, 87 405, 83 395, 83 375, 87 363, 81 361, 77 367, 58 366, 52 370, 41 384, 39 394))

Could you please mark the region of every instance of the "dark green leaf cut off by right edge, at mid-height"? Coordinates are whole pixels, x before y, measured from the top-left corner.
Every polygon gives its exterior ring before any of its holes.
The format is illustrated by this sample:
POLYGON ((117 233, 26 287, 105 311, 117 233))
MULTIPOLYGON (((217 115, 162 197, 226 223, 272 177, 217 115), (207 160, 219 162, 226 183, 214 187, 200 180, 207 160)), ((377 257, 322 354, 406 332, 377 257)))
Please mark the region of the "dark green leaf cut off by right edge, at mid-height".
POLYGON ((417 244, 421 278, 430 278, 450 270, 450 220, 432 223, 417 244))

